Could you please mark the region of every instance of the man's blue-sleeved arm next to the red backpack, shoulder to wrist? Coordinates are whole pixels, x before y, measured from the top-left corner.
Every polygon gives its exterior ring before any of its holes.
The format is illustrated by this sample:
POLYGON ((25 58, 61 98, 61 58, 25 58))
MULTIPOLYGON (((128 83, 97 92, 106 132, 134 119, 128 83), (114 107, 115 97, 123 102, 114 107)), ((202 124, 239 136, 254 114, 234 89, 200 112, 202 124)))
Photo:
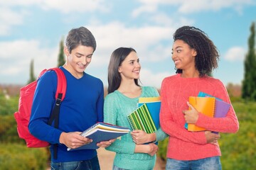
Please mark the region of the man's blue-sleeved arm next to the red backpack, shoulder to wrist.
POLYGON ((28 129, 32 135, 50 143, 59 143, 62 131, 48 125, 48 118, 55 103, 57 76, 55 72, 46 72, 38 80, 31 109, 28 129))

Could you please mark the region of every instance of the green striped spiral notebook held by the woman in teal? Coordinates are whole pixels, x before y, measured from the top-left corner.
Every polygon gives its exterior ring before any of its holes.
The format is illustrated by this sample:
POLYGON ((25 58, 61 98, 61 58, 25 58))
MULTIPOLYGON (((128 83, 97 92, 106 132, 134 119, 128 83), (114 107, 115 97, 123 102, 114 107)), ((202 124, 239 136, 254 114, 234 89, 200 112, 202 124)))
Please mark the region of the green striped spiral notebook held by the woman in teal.
POLYGON ((146 133, 156 132, 156 125, 145 103, 127 115, 127 118, 132 130, 144 130, 146 133))

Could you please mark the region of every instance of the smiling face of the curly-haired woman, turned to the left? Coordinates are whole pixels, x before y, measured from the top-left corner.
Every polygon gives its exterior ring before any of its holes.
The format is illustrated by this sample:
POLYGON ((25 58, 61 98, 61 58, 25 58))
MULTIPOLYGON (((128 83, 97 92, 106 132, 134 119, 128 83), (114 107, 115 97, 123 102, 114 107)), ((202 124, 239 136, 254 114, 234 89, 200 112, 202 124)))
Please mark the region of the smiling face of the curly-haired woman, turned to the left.
POLYGON ((172 60, 176 69, 182 69, 183 71, 196 69, 196 50, 191 48, 183 40, 175 40, 172 48, 172 60))

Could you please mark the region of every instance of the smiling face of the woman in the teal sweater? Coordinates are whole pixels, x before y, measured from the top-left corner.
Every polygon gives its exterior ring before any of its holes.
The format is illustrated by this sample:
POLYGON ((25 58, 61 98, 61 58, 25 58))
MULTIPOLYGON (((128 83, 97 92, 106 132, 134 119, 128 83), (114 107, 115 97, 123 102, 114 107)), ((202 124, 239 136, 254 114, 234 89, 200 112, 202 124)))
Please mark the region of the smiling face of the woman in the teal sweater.
POLYGON ((122 62, 118 69, 122 79, 139 79, 141 65, 137 53, 132 51, 122 62))

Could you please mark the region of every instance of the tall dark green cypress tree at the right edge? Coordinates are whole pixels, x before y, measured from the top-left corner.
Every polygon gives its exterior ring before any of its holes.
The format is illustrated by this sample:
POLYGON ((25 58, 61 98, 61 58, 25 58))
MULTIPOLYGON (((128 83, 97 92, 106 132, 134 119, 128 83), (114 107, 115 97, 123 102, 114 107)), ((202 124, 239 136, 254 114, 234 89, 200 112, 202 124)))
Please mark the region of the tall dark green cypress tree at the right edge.
POLYGON ((242 81, 242 98, 249 101, 256 101, 256 54, 255 54, 255 23, 250 27, 248 40, 248 52, 245 56, 245 74, 242 81))

